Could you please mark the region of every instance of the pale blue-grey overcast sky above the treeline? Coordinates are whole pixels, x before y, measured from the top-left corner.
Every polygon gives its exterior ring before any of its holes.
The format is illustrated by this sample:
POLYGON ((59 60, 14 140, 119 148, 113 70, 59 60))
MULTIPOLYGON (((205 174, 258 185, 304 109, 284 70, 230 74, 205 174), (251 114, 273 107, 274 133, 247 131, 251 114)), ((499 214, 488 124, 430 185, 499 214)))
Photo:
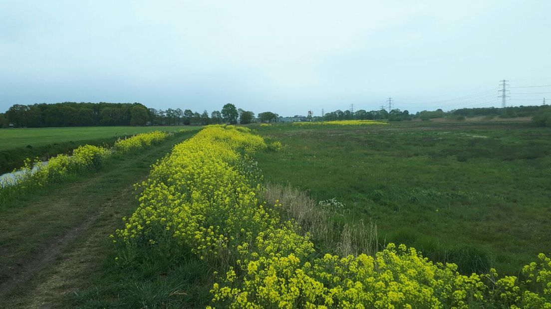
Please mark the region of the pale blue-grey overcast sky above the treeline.
POLYGON ((544 86, 511 88, 507 104, 551 103, 550 13, 548 0, 0 0, 0 112, 499 107, 502 79, 544 86))

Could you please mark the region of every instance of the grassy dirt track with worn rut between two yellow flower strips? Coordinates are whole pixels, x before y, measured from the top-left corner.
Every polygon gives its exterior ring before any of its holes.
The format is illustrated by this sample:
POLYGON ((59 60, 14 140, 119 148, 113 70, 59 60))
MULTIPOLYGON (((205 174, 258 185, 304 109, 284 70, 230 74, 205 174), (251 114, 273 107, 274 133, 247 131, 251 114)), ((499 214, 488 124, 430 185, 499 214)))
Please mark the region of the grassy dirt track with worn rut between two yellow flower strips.
POLYGON ((187 137, 121 158, 85 179, 2 209, 0 222, 10 224, 0 226, 0 307, 43 307, 41 299, 35 299, 33 306, 23 304, 33 299, 29 290, 50 279, 46 268, 66 261, 74 247, 97 232, 94 228, 103 221, 115 222, 115 217, 120 221, 119 208, 135 207, 132 185, 144 179, 151 164, 187 137))

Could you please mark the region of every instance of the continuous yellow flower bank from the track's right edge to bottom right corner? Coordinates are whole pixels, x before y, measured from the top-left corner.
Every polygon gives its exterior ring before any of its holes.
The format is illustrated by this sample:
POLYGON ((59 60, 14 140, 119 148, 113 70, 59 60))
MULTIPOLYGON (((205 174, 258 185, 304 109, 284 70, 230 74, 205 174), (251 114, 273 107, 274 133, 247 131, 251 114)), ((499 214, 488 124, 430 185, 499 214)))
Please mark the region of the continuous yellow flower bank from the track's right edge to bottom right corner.
POLYGON ((404 245, 376 256, 316 252, 296 223, 280 219, 279 203, 258 199, 262 176, 250 156, 265 148, 247 128, 207 126, 137 185, 139 207, 118 237, 192 252, 213 269, 236 266, 213 285, 212 307, 551 308, 545 255, 520 280, 493 269, 462 275, 455 264, 433 263, 404 245))

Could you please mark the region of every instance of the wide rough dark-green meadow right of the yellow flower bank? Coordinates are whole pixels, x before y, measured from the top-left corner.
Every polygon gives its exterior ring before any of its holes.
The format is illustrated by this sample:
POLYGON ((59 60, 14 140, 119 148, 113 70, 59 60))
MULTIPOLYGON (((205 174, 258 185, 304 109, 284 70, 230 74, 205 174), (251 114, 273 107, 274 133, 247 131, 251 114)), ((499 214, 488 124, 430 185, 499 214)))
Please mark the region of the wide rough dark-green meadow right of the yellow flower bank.
POLYGON ((337 198, 347 220, 372 220, 383 242, 467 273, 518 273, 551 251, 550 129, 408 122, 257 130, 285 145, 258 155, 267 180, 318 201, 337 198))

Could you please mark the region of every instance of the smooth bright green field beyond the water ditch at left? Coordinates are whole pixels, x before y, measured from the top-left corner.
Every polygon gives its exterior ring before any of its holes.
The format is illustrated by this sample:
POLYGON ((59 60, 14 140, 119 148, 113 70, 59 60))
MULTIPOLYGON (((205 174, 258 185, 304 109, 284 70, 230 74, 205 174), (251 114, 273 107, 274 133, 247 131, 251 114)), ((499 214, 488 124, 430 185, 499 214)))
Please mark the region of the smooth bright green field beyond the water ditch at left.
POLYGON ((0 129, 0 174, 23 165, 26 158, 47 159, 85 144, 112 145, 117 139, 155 130, 198 130, 201 126, 81 126, 0 129))

